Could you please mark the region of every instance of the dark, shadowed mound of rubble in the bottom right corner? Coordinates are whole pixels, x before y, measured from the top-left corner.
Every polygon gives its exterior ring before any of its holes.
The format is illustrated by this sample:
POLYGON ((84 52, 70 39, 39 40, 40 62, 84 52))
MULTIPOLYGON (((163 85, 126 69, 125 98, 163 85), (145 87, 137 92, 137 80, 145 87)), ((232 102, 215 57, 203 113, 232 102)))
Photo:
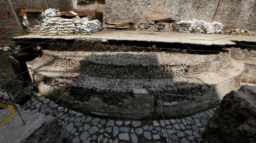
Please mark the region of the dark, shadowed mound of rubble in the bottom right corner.
POLYGON ((223 97, 220 107, 205 126, 200 143, 255 143, 255 86, 242 86, 223 97))

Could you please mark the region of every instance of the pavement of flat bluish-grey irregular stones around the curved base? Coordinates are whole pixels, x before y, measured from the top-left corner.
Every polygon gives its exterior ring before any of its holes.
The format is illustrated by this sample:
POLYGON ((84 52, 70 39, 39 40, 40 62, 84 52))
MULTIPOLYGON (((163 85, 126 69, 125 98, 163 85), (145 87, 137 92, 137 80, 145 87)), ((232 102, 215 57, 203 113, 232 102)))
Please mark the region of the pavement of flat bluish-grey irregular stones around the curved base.
MULTIPOLYGON (((44 96, 34 96, 23 105, 31 112, 44 113, 54 104, 44 96)), ((31 90, 33 87, 31 87, 31 90)), ((178 119, 166 119, 168 143, 199 143, 205 125, 216 108, 178 119)), ((94 118, 54 104, 47 115, 56 116, 70 132, 74 143, 164 143, 163 120, 133 121, 94 118)))

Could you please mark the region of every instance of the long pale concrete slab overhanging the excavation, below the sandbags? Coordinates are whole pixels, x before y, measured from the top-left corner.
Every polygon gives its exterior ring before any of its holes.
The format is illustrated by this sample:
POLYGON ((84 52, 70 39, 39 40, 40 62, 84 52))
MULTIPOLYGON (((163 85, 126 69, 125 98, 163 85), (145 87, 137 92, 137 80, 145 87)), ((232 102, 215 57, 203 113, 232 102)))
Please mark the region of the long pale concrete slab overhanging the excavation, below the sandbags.
POLYGON ((230 40, 242 40, 256 42, 256 36, 238 36, 223 34, 203 34, 203 33, 179 33, 179 32, 149 32, 149 31, 118 31, 104 30, 92 35, 65 35, 65 36, 40 36, 25 35, 13 37, 13 39, 23 38, 53 38, 53 39, 74 39, 74 38, 96 38, 108 40, 131 40, 131 41, 159 41, 168 43, 188 43, 188 44, 235 44, 230 40))

